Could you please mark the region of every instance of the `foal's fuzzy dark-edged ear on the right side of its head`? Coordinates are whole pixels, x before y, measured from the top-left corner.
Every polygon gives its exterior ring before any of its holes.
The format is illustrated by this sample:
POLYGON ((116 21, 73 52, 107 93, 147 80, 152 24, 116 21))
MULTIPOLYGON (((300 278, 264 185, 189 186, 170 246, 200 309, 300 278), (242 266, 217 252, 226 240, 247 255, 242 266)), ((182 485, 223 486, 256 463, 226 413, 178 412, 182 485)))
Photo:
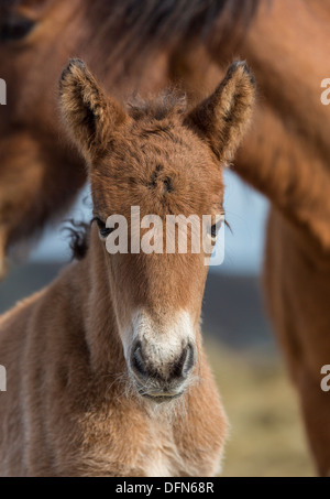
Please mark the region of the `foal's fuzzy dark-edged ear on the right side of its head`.
POLYGON ((230 163, 249 126, 255 100, 255 82, 244 62, 229 67, 215 93, 188 116, 188 123, 221 162, 230 163))

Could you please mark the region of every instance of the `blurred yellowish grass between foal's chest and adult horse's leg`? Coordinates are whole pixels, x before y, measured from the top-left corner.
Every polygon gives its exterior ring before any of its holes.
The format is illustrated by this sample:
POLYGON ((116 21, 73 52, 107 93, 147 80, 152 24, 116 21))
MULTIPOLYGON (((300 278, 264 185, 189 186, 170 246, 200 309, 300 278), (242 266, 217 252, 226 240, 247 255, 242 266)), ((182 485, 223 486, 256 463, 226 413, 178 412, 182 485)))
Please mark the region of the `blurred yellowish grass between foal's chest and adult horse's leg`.
POLYGON ((276 356, 206 344, 231 424, 224 477, 315 476, 296 393, 276 356))

